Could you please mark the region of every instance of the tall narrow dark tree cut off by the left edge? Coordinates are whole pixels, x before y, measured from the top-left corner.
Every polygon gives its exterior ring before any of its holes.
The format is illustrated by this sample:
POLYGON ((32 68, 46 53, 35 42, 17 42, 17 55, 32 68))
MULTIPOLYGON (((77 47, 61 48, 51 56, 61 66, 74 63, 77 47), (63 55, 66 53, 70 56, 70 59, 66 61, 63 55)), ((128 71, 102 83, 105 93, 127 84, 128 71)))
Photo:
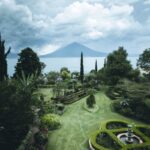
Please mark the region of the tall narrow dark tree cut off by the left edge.
POLYGON ((6 58, 10 53, 10 49, 11 48, 9 48, 5 53, 5 41, 1 39, 0 35, 0 81, 3 81, 8 76, 6 58))

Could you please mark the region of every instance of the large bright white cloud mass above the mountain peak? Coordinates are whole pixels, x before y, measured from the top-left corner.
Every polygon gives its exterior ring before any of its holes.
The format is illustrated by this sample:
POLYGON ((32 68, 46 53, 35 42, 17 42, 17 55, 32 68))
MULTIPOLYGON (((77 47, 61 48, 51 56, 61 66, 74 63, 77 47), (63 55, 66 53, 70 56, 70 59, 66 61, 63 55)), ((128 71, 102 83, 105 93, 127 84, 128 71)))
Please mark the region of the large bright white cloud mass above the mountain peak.
POLYGON ((131 5, 104 7, 100 3, 74 2, 52 19, 52 26, 55 33, 78 33, 81 37, 87 35, 87 39, 94 40, 106 37, 112 32, 122 32, 135 27, 137 23, 131 15, 133 10, 131 5), (64 26, 63 30, 56 30, 61 26, 64 26), (68 31, 70 26, 72 29, 68 31))

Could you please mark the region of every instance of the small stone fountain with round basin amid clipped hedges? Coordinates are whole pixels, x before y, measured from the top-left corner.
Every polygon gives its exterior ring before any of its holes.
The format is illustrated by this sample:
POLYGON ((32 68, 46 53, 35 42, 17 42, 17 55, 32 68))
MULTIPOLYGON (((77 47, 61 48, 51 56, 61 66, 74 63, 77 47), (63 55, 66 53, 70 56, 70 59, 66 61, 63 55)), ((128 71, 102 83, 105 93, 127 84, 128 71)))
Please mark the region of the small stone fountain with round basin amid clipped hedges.
POLYGON ((128 125, 128 130, 125 133, 119 133, 117 138, 125 144, 141 144, 142 139, 133 133, 132 125, 128 125))

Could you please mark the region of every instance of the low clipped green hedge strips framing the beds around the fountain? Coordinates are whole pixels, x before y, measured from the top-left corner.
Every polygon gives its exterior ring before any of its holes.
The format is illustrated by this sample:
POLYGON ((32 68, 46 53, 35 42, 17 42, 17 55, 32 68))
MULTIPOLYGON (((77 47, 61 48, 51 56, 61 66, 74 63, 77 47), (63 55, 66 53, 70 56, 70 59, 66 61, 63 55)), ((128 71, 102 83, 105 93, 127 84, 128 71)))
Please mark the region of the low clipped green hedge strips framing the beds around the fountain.
MULTIPOLYGON (((101 132, 106 132, 107 134, 109 134, 112 138, 112 140, 114 140, 118 145, 121 146, 121 150, 136 150, 136 149, 141 149, 141 150, 150 150, 147 149, 150 147, 150 138, 148 136, 146 136, 144 133, 142 133, 140 130, 138 130, 138 128, 143 127, 143 128, 147 128, 150 129, 150 127, 148 125, 137 125, 135 127, 133 127, 133 131, 142 138, 142 140, 144 141, 144 143, 142 144, 128 144, 125 145, 123 142, 119 141, 116 134, 118 134, 119 132, 126 132, 127 131, 127 127, 124 128, 119 128, 119 129, 107 129, 106 126, 108 123, 125 123, 128 124, 128 122, 126 121, 120 121, 120 120, 109 120, 106 122, 102 122, 100 125, 100 129, 95 131, 90 139, 89 139, 89 147, 92 147, 94 150, 106 150, 105 147, 99 145, 96 143, 96 137, 98 134, 100 134, 101 132), (145 148, 145 149, 142 149, 145 148)), ((91 149, 91 150, 93 150, 91 149)))

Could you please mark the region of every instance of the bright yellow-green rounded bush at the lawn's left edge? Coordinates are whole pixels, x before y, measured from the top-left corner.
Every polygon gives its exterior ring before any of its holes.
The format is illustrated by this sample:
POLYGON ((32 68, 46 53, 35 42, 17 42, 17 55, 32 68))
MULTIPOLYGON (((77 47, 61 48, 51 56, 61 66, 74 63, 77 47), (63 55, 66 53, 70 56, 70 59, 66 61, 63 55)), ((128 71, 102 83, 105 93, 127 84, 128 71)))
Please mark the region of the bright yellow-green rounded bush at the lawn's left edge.
POLYGON ((53 130, 57 129, 59 126, 60 126, 60 119, 58 115, 46 114, 41 117, 41 127, 53 130))

